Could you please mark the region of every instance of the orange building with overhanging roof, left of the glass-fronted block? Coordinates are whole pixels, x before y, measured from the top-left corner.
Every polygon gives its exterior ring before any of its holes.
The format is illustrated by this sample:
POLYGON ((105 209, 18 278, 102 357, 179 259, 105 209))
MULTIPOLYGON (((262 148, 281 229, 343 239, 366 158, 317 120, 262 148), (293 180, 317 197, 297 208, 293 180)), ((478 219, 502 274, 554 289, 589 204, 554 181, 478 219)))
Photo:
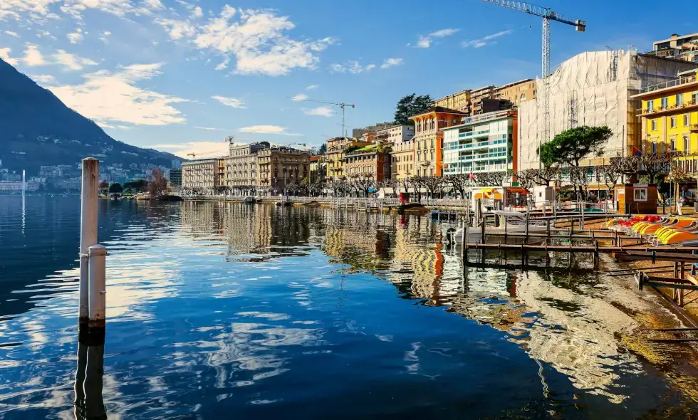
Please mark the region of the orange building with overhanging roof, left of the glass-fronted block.
POLYGON ((415 170, 417 177, 440 177, 444 172, 443 129, 459 125, 467 114, 444 107, 431 107, 410 117, 415 122, 415 170))

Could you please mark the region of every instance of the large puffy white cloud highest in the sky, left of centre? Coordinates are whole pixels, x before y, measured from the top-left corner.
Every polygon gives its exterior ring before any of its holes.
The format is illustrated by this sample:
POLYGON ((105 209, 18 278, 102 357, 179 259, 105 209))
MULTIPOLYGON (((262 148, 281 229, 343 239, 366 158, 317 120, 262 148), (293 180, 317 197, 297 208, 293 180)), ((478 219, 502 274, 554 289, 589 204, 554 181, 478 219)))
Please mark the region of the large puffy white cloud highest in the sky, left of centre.
POLYGON ((199 25, 174 19, 159 19, 158 23, 172 39, 188 38, 198 48, 233 56, 239 74, 278 76, 296 68, 315 68, 316 53, 334 42, 332 38, 288 38, 285 32, 296 26, 287 16, 276 16, 270 10, 238 10, 227 4, 219 16, 199 25))

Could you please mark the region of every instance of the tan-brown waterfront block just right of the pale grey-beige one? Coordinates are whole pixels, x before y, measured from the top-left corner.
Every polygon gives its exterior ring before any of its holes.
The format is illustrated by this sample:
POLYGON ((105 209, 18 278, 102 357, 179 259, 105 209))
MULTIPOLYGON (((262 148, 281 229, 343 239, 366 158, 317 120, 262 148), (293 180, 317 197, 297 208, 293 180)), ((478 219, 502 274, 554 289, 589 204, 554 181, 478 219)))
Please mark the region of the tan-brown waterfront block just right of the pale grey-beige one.
POLYGON ((310 176, 311 154, 290 147, 271 147, 257 152, 257 186, 281 192, 286 186, 310 176))

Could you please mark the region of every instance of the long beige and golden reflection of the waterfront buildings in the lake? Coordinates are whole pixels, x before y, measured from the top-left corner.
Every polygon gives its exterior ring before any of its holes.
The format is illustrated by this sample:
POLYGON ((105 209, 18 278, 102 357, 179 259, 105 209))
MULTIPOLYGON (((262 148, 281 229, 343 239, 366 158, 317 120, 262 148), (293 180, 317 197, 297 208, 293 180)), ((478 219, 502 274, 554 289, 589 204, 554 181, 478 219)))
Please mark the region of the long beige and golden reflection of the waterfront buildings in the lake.
POLYGON ((615 403, 626 398, 617 372, 639 371, 614 337, 632 318, 537 273, 469 268, 464 278, 459 248, 444 248, 442 226, 425 217, 187 202, 182 225, 199 241, 226 241, 229 261, 321 250, 347 274, 372 273, 404 298, 491 325, 578 389, 615 403))

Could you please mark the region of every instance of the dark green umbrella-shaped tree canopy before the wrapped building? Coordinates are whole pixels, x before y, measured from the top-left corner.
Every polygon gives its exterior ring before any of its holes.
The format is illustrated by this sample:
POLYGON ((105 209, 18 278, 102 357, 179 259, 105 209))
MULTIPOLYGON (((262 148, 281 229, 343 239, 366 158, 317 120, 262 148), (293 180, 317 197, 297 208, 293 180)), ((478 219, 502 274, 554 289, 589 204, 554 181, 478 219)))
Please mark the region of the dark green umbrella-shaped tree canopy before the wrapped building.
POLYGON ((578 167, 579 161, 589 154, 599 156, 603 147, 613 135, 610 128, 574 127, 556 135, 550 142, 541 146, 541 162, 546 167, 556 164, 568 164, 578 167))

